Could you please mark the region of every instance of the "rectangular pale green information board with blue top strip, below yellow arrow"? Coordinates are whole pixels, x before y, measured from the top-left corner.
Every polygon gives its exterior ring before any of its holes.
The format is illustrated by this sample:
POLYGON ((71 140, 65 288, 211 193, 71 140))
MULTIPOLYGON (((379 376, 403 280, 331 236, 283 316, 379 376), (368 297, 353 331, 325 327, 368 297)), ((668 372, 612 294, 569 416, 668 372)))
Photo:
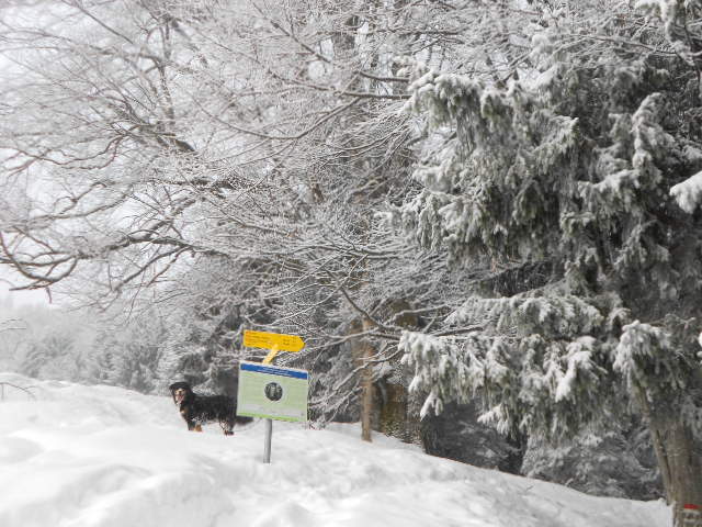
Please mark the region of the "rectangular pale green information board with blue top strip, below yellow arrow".
POLYGON ((305 370, 241 361, 237 414, 306 422, 308 384, 305 370))

